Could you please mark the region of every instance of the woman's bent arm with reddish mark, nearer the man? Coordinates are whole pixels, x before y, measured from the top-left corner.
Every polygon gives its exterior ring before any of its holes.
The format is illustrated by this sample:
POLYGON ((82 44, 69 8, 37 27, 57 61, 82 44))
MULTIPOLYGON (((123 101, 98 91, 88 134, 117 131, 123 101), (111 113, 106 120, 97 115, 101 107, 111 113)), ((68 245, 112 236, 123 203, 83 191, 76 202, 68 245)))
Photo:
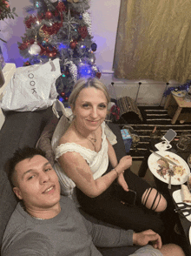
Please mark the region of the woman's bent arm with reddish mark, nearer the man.
POLYGON ((90 198, 102 194, 118 175, 123 172, 127 162, 127 160, 123 159, 120 161, 119 165, 115 166, 115 170, 94 180, 89 165, 79 153, 64 153, 58 158, 58 161, 69 178, 72 179, 76 186, 90 198))

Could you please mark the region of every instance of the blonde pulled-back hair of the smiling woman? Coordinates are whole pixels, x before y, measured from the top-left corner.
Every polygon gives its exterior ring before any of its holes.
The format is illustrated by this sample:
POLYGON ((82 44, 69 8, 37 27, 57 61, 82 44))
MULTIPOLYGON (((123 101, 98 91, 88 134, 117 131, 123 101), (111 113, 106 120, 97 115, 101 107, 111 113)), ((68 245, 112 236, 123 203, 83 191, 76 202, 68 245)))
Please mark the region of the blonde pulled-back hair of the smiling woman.
POLYGON ((79 93, 82 91, 83 88, 89 87, 94 87, 97 90, 101 90, 105 94, 105 97, 107 98, 107 101, 109 103, 109 91, 105 84, 102 84, 102 82, 97 78, 80 78, 79 80, 77 80, 71 94, 69 95, 69 105, 72 105, 75 108, 76 98, 78 97, 79 93))

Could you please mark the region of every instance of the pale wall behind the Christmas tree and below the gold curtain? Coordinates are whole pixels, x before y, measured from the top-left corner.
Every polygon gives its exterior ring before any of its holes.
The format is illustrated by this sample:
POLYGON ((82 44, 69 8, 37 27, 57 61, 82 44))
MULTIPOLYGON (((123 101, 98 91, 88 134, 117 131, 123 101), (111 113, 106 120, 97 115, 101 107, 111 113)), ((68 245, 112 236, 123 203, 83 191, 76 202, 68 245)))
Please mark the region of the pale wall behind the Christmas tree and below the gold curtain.
MULTIPOLYGON (((115 83, 115 93, 118 98, 128 96, 134 98, 139 105, 162 105, 165 100, 162 94, 167 88, 167 84, 164 82, 133 81, 113 77, 112 65, 120 3, 120 0, 90 1, 89 12, 92 19, 92 35, 97 44, 95 64, 102 71, 102 81, 105 84, 115 83)), ((30 6, 30 4, 30 0, 10 0, 11 7, 16 7, 18 17, 15 20, 0 21, 1 36, 8 42, 3 44, 0 41, 3 56, 6 62, 15 63, 16 67, 23 65, 23 58, 19 54, 17 42, 22 42, 21 37, 25 32, 23 18, 27 15, 25 7, 30 6)), ((169 81, 169 83, 169 86, 179 85, 175 81, 169 81)))

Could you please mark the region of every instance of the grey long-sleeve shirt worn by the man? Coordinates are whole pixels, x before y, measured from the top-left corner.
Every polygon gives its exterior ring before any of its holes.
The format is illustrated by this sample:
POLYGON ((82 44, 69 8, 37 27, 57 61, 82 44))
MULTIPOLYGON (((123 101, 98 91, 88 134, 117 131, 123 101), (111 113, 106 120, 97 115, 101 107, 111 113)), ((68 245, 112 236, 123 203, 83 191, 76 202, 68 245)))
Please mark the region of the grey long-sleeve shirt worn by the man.
POLYGON ((92 224, 67 197, 61 197, 60 204, 61 212, 55 218, 43 220, 32 218, 20 204, 16 205, 4 232, 2 255, 100 256, 95 246, 133 245, 132 230, 92 224))

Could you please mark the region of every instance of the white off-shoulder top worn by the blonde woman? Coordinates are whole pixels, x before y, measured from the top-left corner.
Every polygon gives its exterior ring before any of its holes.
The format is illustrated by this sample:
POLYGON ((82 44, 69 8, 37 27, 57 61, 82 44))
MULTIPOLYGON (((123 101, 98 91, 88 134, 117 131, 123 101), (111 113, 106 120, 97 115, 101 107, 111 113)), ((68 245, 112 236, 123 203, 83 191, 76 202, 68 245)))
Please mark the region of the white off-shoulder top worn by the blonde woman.
MULTIPOLYGON (((108 141, 105 134, 105 122, 102 123, 102 148, 99 152, 92 151, 82 145, 77 145, 76 143, 65 143, 58 145, 55 150, 56 159, 60 158, 66 152, 78 152, 88 163, 94 179, 98 179, 102 176, 104 172, 107 171, 109 165, 108 156, 108 141)), ((54 165, 56 174, 60 181, 61 193, 74 199, 73 192, 76 187, 75 183, 69 179, 61 165, 56 161, 54 165)))

